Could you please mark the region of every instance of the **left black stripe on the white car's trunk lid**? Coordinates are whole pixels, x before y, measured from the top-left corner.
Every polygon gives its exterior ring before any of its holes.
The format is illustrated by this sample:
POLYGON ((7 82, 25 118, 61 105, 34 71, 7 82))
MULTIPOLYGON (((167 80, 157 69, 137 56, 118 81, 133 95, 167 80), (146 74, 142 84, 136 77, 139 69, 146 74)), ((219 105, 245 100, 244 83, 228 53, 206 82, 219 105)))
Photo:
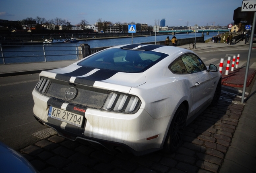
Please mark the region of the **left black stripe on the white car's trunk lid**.
POLYGON ((72 76, 83 76, 83 75, 89 73, 93 69, 95 69, 95 68, 81 66, 80 68, 77 68, 76 70, 74 70, 72 72, 64 73, 64 74, 57 74, 55 76, 55 78, 58 79, 58 80, 64 80, 66 82, 69 82, 70 77, 72 77, 72 76))

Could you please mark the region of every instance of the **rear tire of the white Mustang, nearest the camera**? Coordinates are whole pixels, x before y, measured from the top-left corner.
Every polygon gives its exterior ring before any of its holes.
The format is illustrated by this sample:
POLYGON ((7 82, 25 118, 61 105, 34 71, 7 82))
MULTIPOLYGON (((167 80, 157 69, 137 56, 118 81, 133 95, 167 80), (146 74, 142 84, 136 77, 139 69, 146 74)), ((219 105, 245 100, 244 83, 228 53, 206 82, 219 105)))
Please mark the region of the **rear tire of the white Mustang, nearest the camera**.
POLYGON ((186 119, 187 110, 185 105, 181 104, 174 114, 165 139, 163 146, 165 153, 173 153, 180 147, 180 145, 182 145, 184 129, 186 127, 186 119))

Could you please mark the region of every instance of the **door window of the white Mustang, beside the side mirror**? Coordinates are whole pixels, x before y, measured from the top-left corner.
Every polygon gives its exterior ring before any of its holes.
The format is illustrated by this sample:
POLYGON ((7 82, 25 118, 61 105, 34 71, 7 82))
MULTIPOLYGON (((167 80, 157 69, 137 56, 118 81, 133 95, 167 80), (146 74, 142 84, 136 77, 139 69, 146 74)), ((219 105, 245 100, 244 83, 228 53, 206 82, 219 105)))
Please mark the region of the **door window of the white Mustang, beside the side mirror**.
POLYGON ((206 69, 202 60, 194 54, 185 54, 180 58, 185 64, 188 73, 200 72, 206 69))

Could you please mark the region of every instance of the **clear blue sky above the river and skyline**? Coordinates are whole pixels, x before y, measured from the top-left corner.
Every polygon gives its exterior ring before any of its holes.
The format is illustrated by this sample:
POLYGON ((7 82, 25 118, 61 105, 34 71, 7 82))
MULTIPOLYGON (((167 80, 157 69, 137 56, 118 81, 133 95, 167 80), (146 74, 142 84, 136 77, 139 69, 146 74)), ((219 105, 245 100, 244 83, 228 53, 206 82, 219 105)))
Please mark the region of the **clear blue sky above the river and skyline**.
POLYGON ((56 17, 72 25, 81 20, 166 26, 227 26, 242 0, 0 0, 0 19, 56 17))

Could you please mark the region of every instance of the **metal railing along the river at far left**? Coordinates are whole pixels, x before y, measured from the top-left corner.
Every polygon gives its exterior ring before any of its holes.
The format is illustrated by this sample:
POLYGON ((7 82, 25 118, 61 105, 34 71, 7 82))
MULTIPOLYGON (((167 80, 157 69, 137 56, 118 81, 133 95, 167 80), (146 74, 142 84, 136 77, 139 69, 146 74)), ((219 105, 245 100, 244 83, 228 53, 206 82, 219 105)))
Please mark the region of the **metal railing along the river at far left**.
MULTIPOLYGON (((12 42, 13 43, 13 42, 12 42)), ((74 60, 83 56, 81 44, 36 44, 2 45, 0 43, 0 64, 74 60), (15 56, 13 56, 15 54, 15 56), (22 54, 22 55, 21 55, 22 54), (55 58, 58 57, 58 58, 55 58), (64 57, 64 58, 63 58, 64 57), (10 59, 13 60, 10 60, 10 59), (14 58, 18 58, 16 62, 14 58), (1 62, 2 59, 2 62, 1 62), (26 59, 29 59, 27 61, 26 59), (34 60, 33 60, 34 59, 34 60), (8 62, 9 61, 9 62, 8 62)))

